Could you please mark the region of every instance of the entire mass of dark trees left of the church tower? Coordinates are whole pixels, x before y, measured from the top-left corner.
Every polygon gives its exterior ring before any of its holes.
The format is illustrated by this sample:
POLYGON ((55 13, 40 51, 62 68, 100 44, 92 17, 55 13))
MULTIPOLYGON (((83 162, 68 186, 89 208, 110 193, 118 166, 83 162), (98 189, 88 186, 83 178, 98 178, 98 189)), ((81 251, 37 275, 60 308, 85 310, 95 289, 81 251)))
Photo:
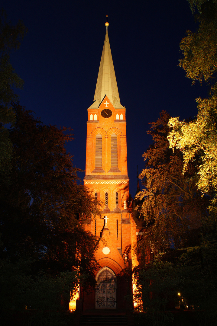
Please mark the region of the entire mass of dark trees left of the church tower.
POLYGON ((23 80, 10 52, 26 31, 0 11, 0 320, 15 324, 20 311, 23 324, 66 325, 61 305, 68 310, 79 283, 95 284, 98 239, 84 224, 101 203, 66 151, 71 129, 46 126, 17 102, 23 80))

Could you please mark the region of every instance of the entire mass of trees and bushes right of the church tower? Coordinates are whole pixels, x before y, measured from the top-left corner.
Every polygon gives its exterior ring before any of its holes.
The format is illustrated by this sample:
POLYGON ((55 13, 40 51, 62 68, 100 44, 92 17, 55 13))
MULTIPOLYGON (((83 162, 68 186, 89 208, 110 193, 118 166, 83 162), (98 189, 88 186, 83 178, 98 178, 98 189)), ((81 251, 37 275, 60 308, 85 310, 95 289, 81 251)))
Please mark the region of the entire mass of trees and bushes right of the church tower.
MULTIPOLYGON (((189 3, 193 12, 198 10, 199 28, 194 33, 187 31, 182 39, 180 48, 184 57, 179 65, 193 83, 199 81, 209 86, 209 96, 197 99, 198 114, 194 120, 180 122, 178 118, 161 113, 161 118, 152 123, 149 130, 154 144, 144 154, 147 161, 141 176, 145 189, 139 194, 145 196, 140 211, 149 224, 141 243, 151 240, 152 248, 156 243, 161 249, 160 240, 164 244, 170 234, 169 239, 175 239, 170 242, 173 249, 179 247, 177 244, 183 245, 178 250, 155 255, 151 262, 145 261, 134 271, 143 289, 144 307, 150 311, 153 324, 165 321, 165 303, 169 298, 177 298, 177 292, 181 293, 183 301, 194 307, 199 325, 216 323, 217 1, 189 0, 189 3), (170 196, 174 196, 174 200, 170 201, 170 196), (206 207, 210 198, 209 208, 215 214, 208 215, 206 207), (148 216, 152 216, 152 220, 148 216), (191 236, 188 230, 192 217, 201 225, 197 245, 191 241, 177 243, 176 237, 173 238, 176 230, 181 231, 182 240, 185 239, 183 235, 191 236), (156 223, 159 229, 155 228, 156 223)), ((147 316, 145 314, 145 318, 147 316)))

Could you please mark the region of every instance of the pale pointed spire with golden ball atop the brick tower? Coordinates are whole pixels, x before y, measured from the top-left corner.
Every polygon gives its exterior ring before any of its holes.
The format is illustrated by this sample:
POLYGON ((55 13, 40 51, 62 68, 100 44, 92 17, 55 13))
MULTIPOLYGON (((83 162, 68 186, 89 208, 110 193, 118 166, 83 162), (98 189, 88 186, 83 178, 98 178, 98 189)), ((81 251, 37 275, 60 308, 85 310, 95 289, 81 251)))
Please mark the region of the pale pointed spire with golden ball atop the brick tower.
POLYGON ((108 25, 109 23, 106 22, 105 41, 102 50, 94 101, 96 101, 98 98, 101 102, 103 97, 107 95, 114 105, 115 100, 120 103, 120 98, 118 94, 115 69, 112 61, 112 53, 108 38, 108 25))

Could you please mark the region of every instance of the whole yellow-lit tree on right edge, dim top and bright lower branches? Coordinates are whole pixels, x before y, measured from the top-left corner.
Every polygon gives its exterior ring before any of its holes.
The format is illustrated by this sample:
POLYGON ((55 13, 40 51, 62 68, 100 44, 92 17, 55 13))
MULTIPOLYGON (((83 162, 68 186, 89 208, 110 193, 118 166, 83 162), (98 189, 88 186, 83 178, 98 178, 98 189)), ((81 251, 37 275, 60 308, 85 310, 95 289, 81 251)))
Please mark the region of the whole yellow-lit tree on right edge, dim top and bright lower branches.
POLYGON ((183 153, 185 172, 187 165, 199 156, 197 186, 202 194, 211 196, 210 212, 216 211, 217 202, 217 2, 189 0, 192 10, 198 9, 199 28, 187 31, 180 48, 183 58, 179 66, 186 76, 209 86, 208 98, 197 98, 198 114, 193 121, 172 118, 168 135, 171 148, 183 153))

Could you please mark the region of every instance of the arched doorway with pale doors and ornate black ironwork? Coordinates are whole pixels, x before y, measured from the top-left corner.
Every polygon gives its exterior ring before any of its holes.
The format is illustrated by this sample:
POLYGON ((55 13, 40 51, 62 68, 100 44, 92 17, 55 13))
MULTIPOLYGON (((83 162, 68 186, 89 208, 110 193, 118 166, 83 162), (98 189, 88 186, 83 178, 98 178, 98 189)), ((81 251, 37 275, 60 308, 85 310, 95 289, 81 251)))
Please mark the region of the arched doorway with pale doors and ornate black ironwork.
POLYGON ((96 309, 116 308, 116 276, 108 267, 103 267, 96 275, 96 309))

